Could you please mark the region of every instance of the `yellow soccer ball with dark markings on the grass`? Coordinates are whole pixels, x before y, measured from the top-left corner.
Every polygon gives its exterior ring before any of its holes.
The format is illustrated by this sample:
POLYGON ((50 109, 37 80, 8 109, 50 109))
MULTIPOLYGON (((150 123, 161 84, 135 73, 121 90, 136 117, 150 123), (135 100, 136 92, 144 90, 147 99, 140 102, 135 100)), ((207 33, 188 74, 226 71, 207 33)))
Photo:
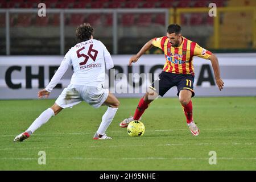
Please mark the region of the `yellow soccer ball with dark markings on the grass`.
POLYGON ((127 126, 127 133, 131 137, 141 137, 145 132, 145 126, 141 121, 132 121, 127 126))

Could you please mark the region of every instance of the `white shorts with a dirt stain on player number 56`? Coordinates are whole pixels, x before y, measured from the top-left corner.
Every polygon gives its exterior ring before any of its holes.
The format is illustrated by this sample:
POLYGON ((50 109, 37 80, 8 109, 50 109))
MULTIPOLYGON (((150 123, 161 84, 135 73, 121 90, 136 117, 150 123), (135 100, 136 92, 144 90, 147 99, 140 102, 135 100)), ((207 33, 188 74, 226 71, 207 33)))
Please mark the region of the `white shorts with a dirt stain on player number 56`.
POLYGON ((63 90, 55 103, 65 109, 85 101, 89 105, 98 108, 106 101, 108 96, 108 89, 70 84, 63 90))

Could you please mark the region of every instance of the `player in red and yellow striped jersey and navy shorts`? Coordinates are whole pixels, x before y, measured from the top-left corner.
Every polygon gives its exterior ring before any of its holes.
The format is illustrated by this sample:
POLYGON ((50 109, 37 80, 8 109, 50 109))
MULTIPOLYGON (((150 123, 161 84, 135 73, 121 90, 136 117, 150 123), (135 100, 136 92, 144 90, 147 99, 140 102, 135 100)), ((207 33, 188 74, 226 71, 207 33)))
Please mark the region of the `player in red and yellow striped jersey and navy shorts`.
POLYGON ((139 101, 133 117, 124 119, 119 126, 127 127, 131 121, 140 120, 142 114, 152 101, 158 96, 163 97, 169 89, 177 86, 177 96, 179 96, 180 104, 187 118, 187 125, 194 136, 199 135, 200 130, 193 121, 191 101, 191 98, 195 96, 193 90, 195 75, 193 56, 199 56, 211 61, 216 84, 222 90, 224 82, 220 77, 220 67, 217 57, 207 49, 200 47, 197 43, 184 38, 181 35, 181 27, 178 24, 170 24, 167 28, 166 36, 151 39, 144 44, 137 55, 130 58, 129 65, 131 66, 132 63, 137 62, 139 57, 153 46, 162 49, 164 52, 166 63, 164 64, 163 71, 139 101))

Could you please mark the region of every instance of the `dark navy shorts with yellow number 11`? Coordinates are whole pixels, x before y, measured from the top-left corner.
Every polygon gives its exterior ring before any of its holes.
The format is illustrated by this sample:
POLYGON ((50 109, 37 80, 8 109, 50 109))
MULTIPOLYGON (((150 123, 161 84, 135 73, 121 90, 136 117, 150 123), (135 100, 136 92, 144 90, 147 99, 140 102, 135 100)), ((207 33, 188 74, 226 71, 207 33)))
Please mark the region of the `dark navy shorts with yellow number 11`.
POLYGON ((177 96, 179 96, 180 90, 190 90, 192 92, 192 97, 195 96, 193 90, 195 76, 176 74, 170 72, 162 72, 159 77, 150 86, 151 89, 155 90, 159 96, 164 96, 168 90, 173 86, 177 86, 177 96))

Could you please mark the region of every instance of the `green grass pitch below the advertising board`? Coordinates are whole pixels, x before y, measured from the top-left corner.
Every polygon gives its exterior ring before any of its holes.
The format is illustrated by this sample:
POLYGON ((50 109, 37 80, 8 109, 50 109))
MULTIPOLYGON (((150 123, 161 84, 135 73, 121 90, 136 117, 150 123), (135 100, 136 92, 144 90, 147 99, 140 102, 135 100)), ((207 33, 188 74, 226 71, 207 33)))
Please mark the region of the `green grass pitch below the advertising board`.
POLYGON ((14 143, 54 100, 0 101, 0 170, 255 170, 256 97, 195 97, 193 137, 177 98, 160 98, 143 115, 143 137, 129 137, 119 122, 139 98, 120 98, 107 130, 113 140, 93 140, 106 106, 65 109, 29 139, 14 143), (39 165, 39 151, 46 164, 39 165), (217 164, 209 164, 216 151, 217 164))

